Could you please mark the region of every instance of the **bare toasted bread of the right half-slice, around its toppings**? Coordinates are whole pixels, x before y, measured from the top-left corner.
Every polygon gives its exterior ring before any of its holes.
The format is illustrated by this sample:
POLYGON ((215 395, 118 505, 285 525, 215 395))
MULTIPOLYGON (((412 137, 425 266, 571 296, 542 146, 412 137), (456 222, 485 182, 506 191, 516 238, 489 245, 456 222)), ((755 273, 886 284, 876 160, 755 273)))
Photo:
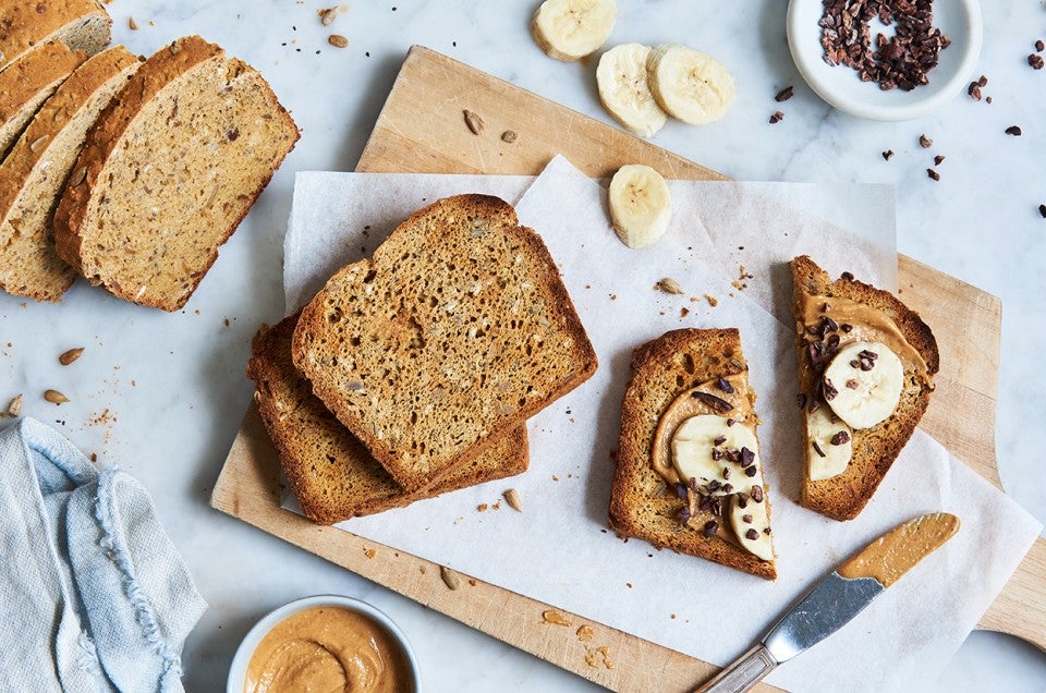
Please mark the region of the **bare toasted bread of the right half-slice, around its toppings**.
MULTIPOLYGON (((872 498, 890 465, 914 433, 923 412, 926 411, 929 394, 934 389, 933 378, 939 367, 937 341, 919 315, 887 291, 862 283, 849 273, 831 281, 828 275, 805 255, 794 258, 791 269, 794 282, 792 311, 795 317, 799 352, 799 391, 801 403, 805 404, 803 408, 805 474, 801 502, 804 507, 829 518, 852 520, 872 498), (835 313, 830 308, 831 299, 837 300, 835 313), (810 438, 807 420, 813 408, 827 408, 829 404, 825 401, 822 389, 817 387, 824 364, 812 362, 811 344, 827 344, 831 335, 838 335, 841 338, 839 342, 841 348, 853 340, 853 335, 859 333, 856 329, 848 330, 848 327, 853 326, 847 323, 849 318, 844 318, 839 313, 846 305, 842 301, 855 302, 888 318, 899 330, 903 340, 914 348, 925 365, 919 365, 912 358, 901 358, 904 365, 904 386, 893 414, 872 428, 852 430, 850 435, 853 452, 844 472, 830 478, 812 481, 810 464, 812 455, 817 452, 810 438), (813 331, 818 331, 824 325, 820 317, 816 320, 806 319, 804 306, 807 302, 815 307, 827 303, 829 312, 825 313, 818 308, 817 313, 829 317, 835 316, 834 319, 838 318, 835 319, 835 324, 839 329, 827 329, 824 333, 817 335, 807 330, 810 326, 813 331)), ((829 352, 831 352, 830 349, 829 352)), ((818 358, 818 361, 823 360, 818 358)))

